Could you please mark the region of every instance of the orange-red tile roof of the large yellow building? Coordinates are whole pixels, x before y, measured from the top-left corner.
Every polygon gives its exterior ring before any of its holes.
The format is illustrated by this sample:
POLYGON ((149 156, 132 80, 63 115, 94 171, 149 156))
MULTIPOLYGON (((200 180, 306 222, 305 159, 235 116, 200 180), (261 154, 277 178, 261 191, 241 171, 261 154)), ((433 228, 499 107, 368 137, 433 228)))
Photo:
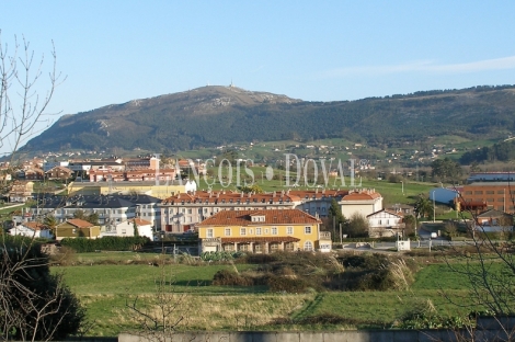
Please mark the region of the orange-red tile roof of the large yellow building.
POLYGON ((320 224, 321 220, 299 209, 222 210, 199 223, 199 226, 259 226, 320 224), (264 216, 264 221, 253 223, 252 216, 264 216))

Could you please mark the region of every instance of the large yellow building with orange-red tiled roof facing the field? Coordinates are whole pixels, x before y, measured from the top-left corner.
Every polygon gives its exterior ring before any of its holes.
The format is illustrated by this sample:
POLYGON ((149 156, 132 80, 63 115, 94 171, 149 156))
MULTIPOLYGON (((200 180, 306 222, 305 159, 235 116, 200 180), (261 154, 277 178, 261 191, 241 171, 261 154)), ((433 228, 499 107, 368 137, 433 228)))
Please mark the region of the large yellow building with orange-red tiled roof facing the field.
POLYGON ((299 209, 222 210, 198 224, 199 251, 330 251, 331 233, 299 209))

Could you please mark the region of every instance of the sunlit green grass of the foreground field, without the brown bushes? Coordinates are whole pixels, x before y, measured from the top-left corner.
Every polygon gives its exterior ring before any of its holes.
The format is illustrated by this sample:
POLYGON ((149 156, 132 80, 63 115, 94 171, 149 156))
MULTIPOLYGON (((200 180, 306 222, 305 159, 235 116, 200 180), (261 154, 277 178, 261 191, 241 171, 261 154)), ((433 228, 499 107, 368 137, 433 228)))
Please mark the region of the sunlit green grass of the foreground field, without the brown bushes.
MULTIPOLYGON (((80 297, 93 321, 89 335, 116 335, 134 328, 134 319, 126 308, 127 300, 138 297, 150 305, 156 296, 156 280, 165 272, 172 296, 184 296, 178 315, 187 316, 187 329, 198 330, 270 330, 270 329, 328 329, 327 326, 274 326, 278 318, 302 318, 316 315, 337 315, 369 322, 367 327, 391 327, 404 312, 424 305, 427 300, 443 315, 465 315, 470 309, 459 309, 443 296, 448 294, 467 299, 468 284, 449 272, 436 259, 422 259, 423 267, 415 283, 403 292, 309 292, 306 294, 270 293, 265 286, 213 286, 215 273, 222 269, 239 272, 256 267, 248 264, 186 265, 170 264, 164 267, 133 264, 134 260, 151 261, 156 254, 91 253, 77 254, 78 260, 91 265, 54 267, 64 272, 66 283, 80 297), (131 256, 125 264, 102 264, 110 255, 131 256), (101 255, 101 256, 99 256, 101 255), (139 255, 139 256, 137 256, 139 255), (104 260, 102 260, 104 259, 104 260), (426 263, 427 264, 424 264, 426 263)), ((466 301, 464 301, 466 304, 466 301)), ((329 329, 344 329, 343 326, 329 329)))

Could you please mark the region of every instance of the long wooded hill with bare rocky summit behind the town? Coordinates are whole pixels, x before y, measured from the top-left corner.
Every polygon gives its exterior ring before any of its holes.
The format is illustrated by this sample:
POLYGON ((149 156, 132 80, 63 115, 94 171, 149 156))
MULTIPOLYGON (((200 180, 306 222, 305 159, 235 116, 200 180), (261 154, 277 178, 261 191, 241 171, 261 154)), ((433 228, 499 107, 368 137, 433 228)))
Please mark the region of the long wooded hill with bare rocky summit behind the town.
POLYGON ((369 145, 428 136, 506 136, 515 86, 307 102, 234 87, 194 90, 65 115, 23 148, 162 151, 236 141, 363 138, 369 145))

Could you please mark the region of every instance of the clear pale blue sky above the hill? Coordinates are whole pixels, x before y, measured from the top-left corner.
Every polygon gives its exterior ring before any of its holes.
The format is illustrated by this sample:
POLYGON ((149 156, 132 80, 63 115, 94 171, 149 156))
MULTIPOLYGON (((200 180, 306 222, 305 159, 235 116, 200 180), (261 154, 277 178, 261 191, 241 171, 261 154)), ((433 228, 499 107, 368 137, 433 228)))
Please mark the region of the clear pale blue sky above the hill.
POLYGON ((234 86, 309 101, 515 83, 515 1, 4 0, 64 114, 234 86))

